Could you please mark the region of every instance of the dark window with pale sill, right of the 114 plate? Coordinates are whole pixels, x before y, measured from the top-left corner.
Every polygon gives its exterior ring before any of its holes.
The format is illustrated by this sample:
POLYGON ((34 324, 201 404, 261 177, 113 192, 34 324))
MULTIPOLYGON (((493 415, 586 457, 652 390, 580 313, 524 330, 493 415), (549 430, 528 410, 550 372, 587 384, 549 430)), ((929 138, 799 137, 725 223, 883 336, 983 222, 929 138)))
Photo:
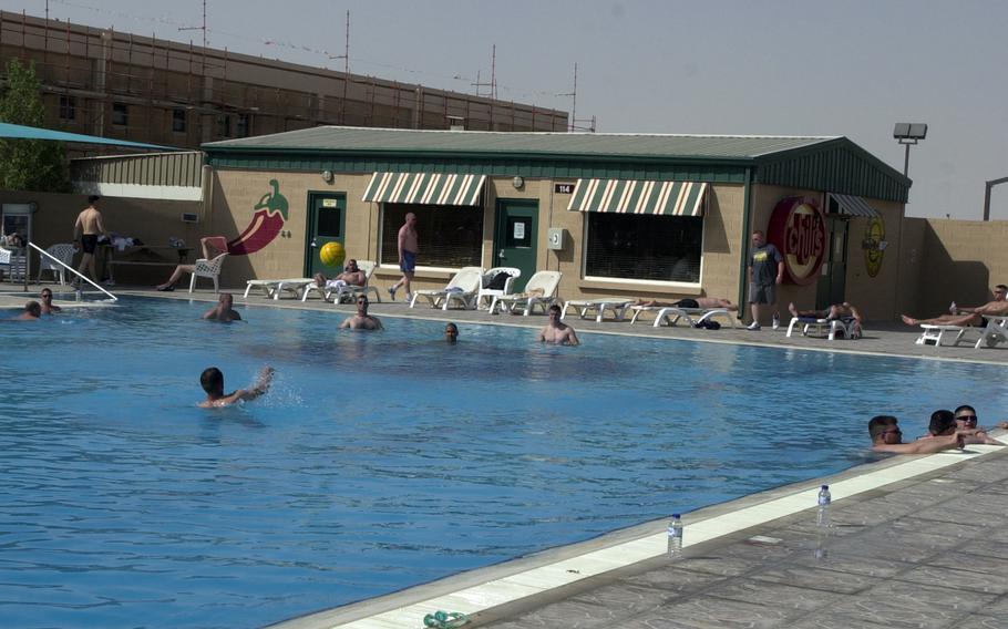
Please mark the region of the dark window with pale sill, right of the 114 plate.
POLYGON ((589 212, 585 275, 700 281, 703 218, 589 212))

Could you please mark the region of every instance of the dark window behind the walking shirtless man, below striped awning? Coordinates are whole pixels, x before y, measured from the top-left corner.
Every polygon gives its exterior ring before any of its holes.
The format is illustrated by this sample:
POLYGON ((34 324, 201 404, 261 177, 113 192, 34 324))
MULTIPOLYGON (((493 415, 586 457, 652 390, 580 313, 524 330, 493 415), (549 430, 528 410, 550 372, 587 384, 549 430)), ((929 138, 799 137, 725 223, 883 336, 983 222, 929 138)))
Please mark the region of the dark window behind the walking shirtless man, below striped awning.
POLYGON ((479 267, 483 251, 483 208, 456 205, 384 204, 381 264, 399 264, 399 228, 407 213, 416 215, 420 255, 424 267, 479 267))

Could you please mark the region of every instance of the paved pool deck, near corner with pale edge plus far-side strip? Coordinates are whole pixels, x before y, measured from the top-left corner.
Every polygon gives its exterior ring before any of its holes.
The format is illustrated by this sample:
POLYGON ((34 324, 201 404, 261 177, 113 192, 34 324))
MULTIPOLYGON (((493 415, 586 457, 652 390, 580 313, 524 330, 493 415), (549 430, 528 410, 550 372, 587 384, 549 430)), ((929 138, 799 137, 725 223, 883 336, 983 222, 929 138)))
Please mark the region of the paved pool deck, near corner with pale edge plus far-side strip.
MULTIPOLYGON (((192 296, 115 292, 214 299, 205 290, 192 296)), ((239 309, 353 311, 350 305, 318 299, 302 303, 250 296, 246 302, 240 291, 235 295, 239 309)), ((0 298, 0 307, 4 299, 11 298, 0 298)), ((23 305, 24 299, 12 299, 23 305)), ((538 328, 545 322, 543 316, 443 312, 402 303, 374 303, 371 312, 452 320, 460 324, 460 342, 466 323, 538 328)), ((246 318, 254 320, 254 313, 246 318)), ((918 331, 896 324, 868 324, 864 339, 829 341, 788 339, 785 329, 769 327, 750 332, 654 328, 650 320, 567 322, 579 332, 1008 363, 1006 344, 980 350, 971 343, 916 346, 918 331)), ((689 513, 683 553, 676 559, 664 553, 666 523, 650 522, 277 627, 413 629, 436 609, 470 613, 466 627, 495 629, 1008 627, 1006 481, 1008 448, 892 457, 689 513), (833 526, 825 533, 815 524, 821 482, 831 485, 834 501, 833 526)))

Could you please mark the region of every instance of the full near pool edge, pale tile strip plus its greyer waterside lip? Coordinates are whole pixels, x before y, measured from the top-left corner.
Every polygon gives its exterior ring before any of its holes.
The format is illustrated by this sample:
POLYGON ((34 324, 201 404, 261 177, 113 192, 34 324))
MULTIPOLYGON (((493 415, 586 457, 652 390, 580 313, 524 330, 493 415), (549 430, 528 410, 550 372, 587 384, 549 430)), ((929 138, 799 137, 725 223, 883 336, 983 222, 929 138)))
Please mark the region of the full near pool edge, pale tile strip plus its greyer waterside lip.
MULTIPOLYGON (((702 547, 748 535, 769 523, 815 508, 821 484, 829 484, 834 502, 856 501, 907 481, 940 475, 977 457, 1006 453, 1005 447, 971 445, 927 456, 895 456, 857 465, 844 472, 750 494, 685 515, 683 547, 702 547)), ((667 561, 665 518, 603 536, 546 549, 526 557, 477 568, 436 581, 407 588, 270 625, 274 629, 388 629, 420 627, 438 609, 470 616, 495 616, 506 606, 520 609, 543 598, 555 598, 579 584, 632 566, 667 561)))

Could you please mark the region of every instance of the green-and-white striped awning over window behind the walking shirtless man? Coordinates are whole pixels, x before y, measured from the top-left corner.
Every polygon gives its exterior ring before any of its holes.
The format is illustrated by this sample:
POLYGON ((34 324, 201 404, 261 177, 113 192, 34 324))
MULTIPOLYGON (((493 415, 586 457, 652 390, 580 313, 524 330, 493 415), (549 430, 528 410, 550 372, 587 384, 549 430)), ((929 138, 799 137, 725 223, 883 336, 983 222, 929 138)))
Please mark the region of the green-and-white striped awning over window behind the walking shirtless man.
POLYGON ((424 205, 480 205, 486 175, 374 173, 363 200, 424 205))

